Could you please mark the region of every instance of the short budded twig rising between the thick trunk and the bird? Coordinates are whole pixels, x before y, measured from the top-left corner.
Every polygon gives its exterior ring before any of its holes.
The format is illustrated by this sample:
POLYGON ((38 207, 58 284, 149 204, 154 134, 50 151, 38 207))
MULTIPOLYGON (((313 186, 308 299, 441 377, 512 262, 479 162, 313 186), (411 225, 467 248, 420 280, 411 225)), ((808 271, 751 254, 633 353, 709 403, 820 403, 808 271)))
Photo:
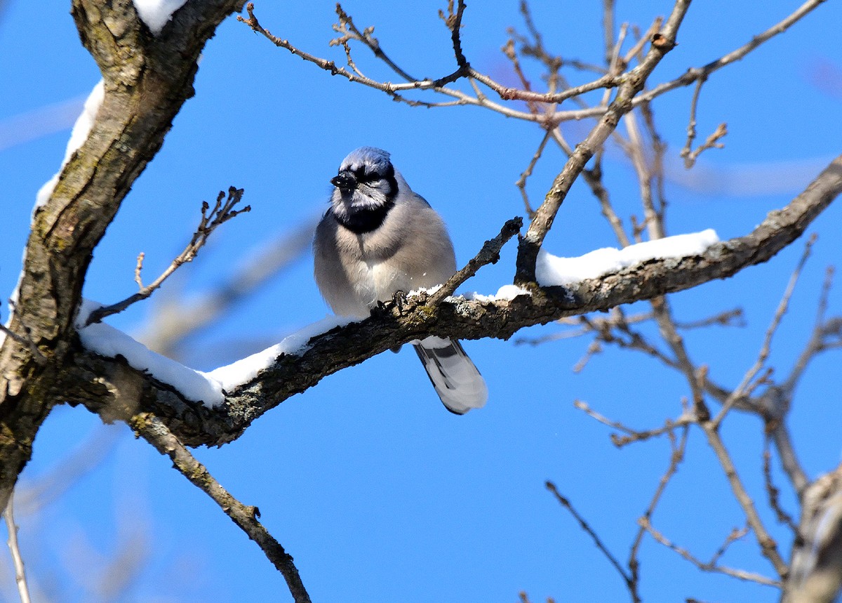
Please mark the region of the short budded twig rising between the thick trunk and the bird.
POLYGON ((158 287, 163 285, 163 281, 167 280, 168 276, 172 275, 176 269, 179 269, 179 266, 192 262, 196 257, 196 253, 199 253, 200 248, 202 248, 207 242, 211 232, 214 232, 217 227, 220 227, 233 217, 236 217, 245 211, 251 211, 251 205, 246 205, 239 210, 234 209, 234 205, 237 205, 237 203, 242 200, 242 192, 242 189, 235 189, 232 186, 228 189, 228 197, 226 199, 225 193, 220 191, 220 194, 216 197, 216 203, 213 208, 211 208, 206 201, 202 201, 202 218, 199 222, 199 226, 196 227, 196 232, 193 233, 193 237, 187 244, 187 247, 184 248, 184 251, 179 253, 179 256, 176 259, 173 259, 173 263, 169 264, 169 267, 164 270, 157 279, 153 280, 152 283, 147 286, 143 286, 141 281, 141 268, 143 266, 143 253, 141 253, 137 257, 137 265, 135 267, 135 280, 141 287, 141 290, 133 296, 126 297, 122 302, 117 302, 111 306, 100 307, 99 309, 94 310, 88 317, 86 325, 99 323, 99 321, 103 318, 118 312, 123 312, 125 308, 131 306, 133 303, 145 300, 148 296, 151 296, 158 287), (226 199, 224 203, 222 201, 223 199, 226 199))

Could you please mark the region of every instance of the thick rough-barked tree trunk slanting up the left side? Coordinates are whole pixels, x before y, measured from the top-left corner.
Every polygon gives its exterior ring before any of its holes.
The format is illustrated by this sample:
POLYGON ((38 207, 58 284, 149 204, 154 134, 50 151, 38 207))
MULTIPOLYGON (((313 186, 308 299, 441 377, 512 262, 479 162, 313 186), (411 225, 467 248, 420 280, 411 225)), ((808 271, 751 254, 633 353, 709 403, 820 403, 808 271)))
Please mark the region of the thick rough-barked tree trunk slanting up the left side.
POLYGON ((88 140, 36 212, 7 337, 0 349, 0 504, 5 505, 72 356, 73 318, 93 248, 131 184, 193 96, 196 59, 242 0, 193 0, 153 36, 131 0, 74 0, 83 44, 103 74, 105 96, 88 140), (38 351, 36 352, 35 349, 38 351))

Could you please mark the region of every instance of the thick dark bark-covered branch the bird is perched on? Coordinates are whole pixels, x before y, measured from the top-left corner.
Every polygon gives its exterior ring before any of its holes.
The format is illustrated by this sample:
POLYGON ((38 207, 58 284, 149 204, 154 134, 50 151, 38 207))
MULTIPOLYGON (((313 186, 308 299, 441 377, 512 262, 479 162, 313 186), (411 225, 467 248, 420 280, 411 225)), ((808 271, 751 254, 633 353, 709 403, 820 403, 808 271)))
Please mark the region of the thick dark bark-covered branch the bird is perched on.
MULTIPOLYGON (((717 243, 702 255, 653 259, 600 279, 568 288, 535 289, 531 296, 509 301, 456 299, 431 308, 429 296, 413 296, 401 308, 386 304, 382 312, 365 321, 312 338, 301 355, 280 355, 274 366, 227 392, 225 402, 217 408, 189 402, 172 387, 146 376, 141 409, 160 416, 189 446, 217 446, 236 439, 258 416, 316 385, 324 376, 413 339, 430 334, 508 339, 525 326, 605 311, 731 276, 785 248, 840 191, 842 157, 837 157, 801 195, 783 209, 770 212, 754 231, 717 243)), ((83 403, 108 416, 110 395, 102 380, 123 362, 84 350, 77 351, 74 362, 75 369, 66 371, 61 391, 72 403, 83 403)))

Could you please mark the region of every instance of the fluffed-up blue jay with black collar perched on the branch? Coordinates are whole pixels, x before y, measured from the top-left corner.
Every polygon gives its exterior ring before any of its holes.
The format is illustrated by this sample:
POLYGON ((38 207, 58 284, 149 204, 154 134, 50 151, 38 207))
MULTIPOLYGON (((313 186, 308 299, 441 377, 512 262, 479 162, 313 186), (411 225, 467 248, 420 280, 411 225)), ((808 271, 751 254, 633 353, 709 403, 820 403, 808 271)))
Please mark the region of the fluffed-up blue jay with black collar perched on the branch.
MULTIPOLYGON (((313 238, 313 272, 335 314, 367 318, 398 291, 429 289, 456 273, 445 222, 409 188, 388 152, 350 152, 330 182, 330 207, 313 238)), ((430 336, 413 346, 451 413, 485 405, 488 387, 457 339, 430 336)))

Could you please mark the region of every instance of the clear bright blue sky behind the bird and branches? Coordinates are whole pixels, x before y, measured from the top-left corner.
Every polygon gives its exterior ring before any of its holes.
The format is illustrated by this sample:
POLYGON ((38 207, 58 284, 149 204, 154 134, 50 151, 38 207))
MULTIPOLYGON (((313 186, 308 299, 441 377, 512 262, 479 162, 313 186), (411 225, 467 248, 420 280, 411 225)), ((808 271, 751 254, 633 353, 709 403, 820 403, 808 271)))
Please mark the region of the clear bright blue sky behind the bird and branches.
MULTIPOLYGON (((400 2, 384 8, 384 3, 356 0, 344 8, 360 26, 376 25, 381 45, 409 72, 436 77, 453 69, 449 34, 436 16, 444 4, 400 2)), ((691 6, 679 46, 652 82, 677 77, 742 45, 796 5, 775 0, 762 10, 751 3, 691 6)), ((600 7, 599 2, 533 3, 546 45, 588 61, 602 56, 600 7)), ((620 0, 617 22, 645 29, 669 8, 668 2, 620 0)), ((274 34, 343 61, 341 49, 327 45, 333 37, 333 3, 258 2, 256 13, 274 34)), ((69 136, 69 125, 38 136, 46 118, 27 115, 72 99, 81 104, 99 73, 79 44, 69 3, 44 3, 35 13, 10 0, 0 15, 5 91, 0 95, 0 295, 5 297, 18 277, 35 192, 56 172, 69 136)), ((699 182, 692 187, 681 184, 686 174, 675 168, 667 188, 670 234, 707 227, 722 238, 749 232, 839 154, 842 56, 831 26, 839 19, 838 3, 826 3, 706 83, 700 139, 727 121, 726 147, 702 156, 692 172, 701 174, 699 182), (834 72, 835 92, 829 77, 834 72)), ((511 78, 499 47, 509 25, 523 29, 517 3, 470 3, 463 23, 472 65, 511 78)), ((373 77, 386 77, 362 49, 357 61, 373 77)), ((536 72, 530 73, 539 85, 536 72)), ((570 77, 575 83, 582 76, 571 72, 570 77)), ((514 181, 541 140, 534 125, 471 107, 413 109, 394 103, 275 49, 234 19, 210 40, 195 88, 195 98, 184 105, 163 149, 97 248, 85 296, 115 302, 130 295, 137 253, 146 253, 144 274, 151 279, 189 239, 201 200, 235 185, 246 190, 251 213, 215 233, 200 258, 157 297, 173 291, 189 296, 212 287, 280 232, 324 211, 329 179, 341 159, 361 145, 392 152, 413 189, 444 216, 461 264, 506 219, 523 213, 514 181)), ((691 93, 681 89, 653 105, 675 165, 691 93)), ((586 127, 570 125, 568 136, 576 141, 586 127)), ((559 152, 546 152, 528 185, 534 201, 562 163, 559 152)), ((640 216, 637 182, 616 147, 606 158, 605 178, 626 223, 632 213, 640 216)), ((840 212, 839 203, 831 206, 810 228, 819 235, 813 259, 773 344, 771 363, 781 375, 809 336, 825 266, 839 260, 840 212)), ((583 184, 574 185, 546 245, 568 256, 616 245, 583 184)), ((513 250, 510 244, 498 265, 482 269, 465 288, 493 293, 510 282, 513 250)), ((694 360, 708 364, 717 381, 735 387, 754 362, 801 253, 798 242, 768 264, 671 297, 685 320, 745 308, 744 328, 686 334, 694 360)), ((210 369, 233 360, 230 350, 240 350, 242 342, 271 344, 323 318, 328 309, 312 282, 311 264, 309 256, 299 260, 195 335, 189 361, 210 369)), ((839 299, 834 291, 830 312, 839 312, 839 299)), ((130 332, 140 329, 155 306, 153 298, 109 323, 130 332)), ((7 318, 5 307, 2 318, 7 318)), ((520 590, 533 601, 548 596, 623 600, 619 577, 543 484, 556 483, 625 561, 637 517, 668 465, 669 445, 653 440, 616 450, 610 431, 573 408, 573 401, 584 400, 612 419, 647 429, 677 416, 680 399, 689 392, 679 376, 631 352, 606 350, 573 373, 589 344, 585 339, 514 344, 517 337, 560 330, 548 325, 525 329, 508 342, 467 342, 490 398, 486 408, 465 417, 445 412, 415 355, 403 350, 329 376, 259 419, 231 445, 196 454, 232 494, 258 505, 265 525, 296 558, 313 600, 514 601, 520 590)), ((647 333, 655 334, 652 328, 647 333)), ((839 462, 838 363, 838 352, 814 362, 791 415, 793 438, 812 477, 839 462)), ((56 409, 35 441, 24 485, 39 483, 61 458, 104 429, 81 408, 56 409)), ((131 542, 132 550, 144 554, 126 600, 285 600, 280 576, 209 499, 125 426, 108 429, 114 440, 107 445, 98 440, 93 451, 85 449, 84 456, 97 461, 95 469, 74 479, 36 515, 25 510, 19 515, 33 584, 53 600, 92 600, 85 581, 95 580, 131 542)), ((776 524, 765 504, 761 431, 758 420, 735 414, 723 426, 723 437, 788 555, 786 528, 776 524)), ((786 486, 780 472, 775 478, 786 486)), ((789 489, 783 490, 783 503, 795 510, 789 489)), ((701 432, 691 432, 687 460, 653 523, 700 558, 709 558, 734 526, 743 526, 701 432)), ((768 587, 701 574, 651 539, 644 542, 641 559, 647 601, 777 600, 768 587)), ((733 545, 723 563, 772 575, 751 537, 733 545)))

